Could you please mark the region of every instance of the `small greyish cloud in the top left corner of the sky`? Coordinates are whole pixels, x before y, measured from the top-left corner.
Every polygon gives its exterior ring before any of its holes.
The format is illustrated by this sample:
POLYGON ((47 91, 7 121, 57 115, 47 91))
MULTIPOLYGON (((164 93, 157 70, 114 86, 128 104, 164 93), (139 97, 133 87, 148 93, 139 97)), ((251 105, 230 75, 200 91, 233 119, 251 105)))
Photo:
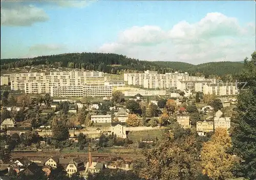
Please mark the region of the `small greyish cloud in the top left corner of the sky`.
POLYGON ((6 3, 9 5, 6 4, 1 8, 1 25, 3 26, 31 26, 35 22, 44 22, 49 19, 44 10, 33 5, 6 3))

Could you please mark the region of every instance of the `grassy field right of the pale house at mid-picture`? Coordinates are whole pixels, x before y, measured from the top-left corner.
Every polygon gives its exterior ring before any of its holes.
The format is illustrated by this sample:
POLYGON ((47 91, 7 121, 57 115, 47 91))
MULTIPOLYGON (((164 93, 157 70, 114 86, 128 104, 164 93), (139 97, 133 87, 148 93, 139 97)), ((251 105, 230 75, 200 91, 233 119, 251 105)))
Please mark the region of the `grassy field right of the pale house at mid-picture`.
POLYGON ((130 131, 127 135, 129 140, 134 142, 138 142, 141 139, 159 139, 161 140, 163 137, 164 129, 153 129, 153 130, 142 130, 142 131, 130 131))

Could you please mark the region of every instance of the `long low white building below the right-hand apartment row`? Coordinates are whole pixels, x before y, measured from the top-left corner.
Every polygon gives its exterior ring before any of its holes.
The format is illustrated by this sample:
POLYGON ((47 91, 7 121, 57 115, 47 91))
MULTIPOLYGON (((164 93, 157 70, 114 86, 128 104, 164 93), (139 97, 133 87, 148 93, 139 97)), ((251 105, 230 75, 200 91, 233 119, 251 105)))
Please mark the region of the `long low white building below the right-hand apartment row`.
POLYGON ((135 96, 137 94, 140 94, 142 96, 165 96, 166 91, 165 90, 156 90, 156 91, 147 91, 143 89, 136 89, 131 91, 125 91, 124 96, 135 96))

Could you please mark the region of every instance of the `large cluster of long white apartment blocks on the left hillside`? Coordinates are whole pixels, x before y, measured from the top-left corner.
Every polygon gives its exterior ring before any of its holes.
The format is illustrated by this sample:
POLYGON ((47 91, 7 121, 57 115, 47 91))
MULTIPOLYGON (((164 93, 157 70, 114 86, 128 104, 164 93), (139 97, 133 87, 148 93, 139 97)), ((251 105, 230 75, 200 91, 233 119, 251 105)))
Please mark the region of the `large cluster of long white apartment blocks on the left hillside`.
MULTIPOLYGON (((10 74, 11 89, 25 93, 50 93, 52 97, 112 96, 112 85, 105 84, 110 76, 103 72, 50 72, 10 74)), ((2 78, 2 77, 1 77, 2 78)))

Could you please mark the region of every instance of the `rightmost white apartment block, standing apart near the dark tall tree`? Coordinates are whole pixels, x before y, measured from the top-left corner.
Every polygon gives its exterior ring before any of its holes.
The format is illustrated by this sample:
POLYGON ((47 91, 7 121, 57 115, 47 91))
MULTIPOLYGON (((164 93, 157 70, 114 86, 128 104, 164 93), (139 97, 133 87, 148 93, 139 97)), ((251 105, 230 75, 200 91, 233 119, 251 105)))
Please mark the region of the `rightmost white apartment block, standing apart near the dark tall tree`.
POLYGON ((215 94, 217 96, 236 95, 237 86, 235 83, 211 83, 204 84, 203 94, 215 94))

